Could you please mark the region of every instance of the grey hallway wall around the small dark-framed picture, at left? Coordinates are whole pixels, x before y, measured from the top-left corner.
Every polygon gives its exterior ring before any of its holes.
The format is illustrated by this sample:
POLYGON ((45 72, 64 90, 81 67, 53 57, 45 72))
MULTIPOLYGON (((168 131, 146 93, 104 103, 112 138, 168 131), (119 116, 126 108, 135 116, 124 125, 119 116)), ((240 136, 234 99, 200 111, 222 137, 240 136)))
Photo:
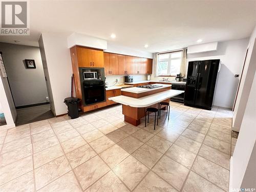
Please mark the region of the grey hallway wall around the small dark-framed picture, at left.
POLYGON ((38 47, 0 42, 15 106, 47 102, 48 96, 38 47), (36 69, 27 69, 25 59, 34 59, 36 69))

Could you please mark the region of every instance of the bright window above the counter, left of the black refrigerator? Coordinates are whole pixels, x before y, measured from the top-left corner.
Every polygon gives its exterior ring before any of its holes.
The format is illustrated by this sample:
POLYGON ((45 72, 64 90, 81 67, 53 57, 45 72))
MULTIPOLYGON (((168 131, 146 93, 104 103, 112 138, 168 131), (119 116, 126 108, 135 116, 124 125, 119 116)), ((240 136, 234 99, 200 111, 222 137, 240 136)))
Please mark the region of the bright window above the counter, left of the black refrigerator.
POLYGON ((158 55, 157 71, 158 76, 180 74, 182 51, 158 55))

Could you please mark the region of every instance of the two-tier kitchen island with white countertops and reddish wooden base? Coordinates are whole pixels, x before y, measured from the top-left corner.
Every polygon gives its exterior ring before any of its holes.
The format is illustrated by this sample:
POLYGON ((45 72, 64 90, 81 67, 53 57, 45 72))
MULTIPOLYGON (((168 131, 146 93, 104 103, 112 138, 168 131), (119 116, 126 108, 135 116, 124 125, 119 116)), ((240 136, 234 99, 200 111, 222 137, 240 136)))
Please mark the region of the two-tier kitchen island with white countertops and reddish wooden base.
POLYGON ((171 90, 168 84, 152 84, 154 88, 132 87, 121 89, 122 95, 110 97, 109 100, 122 104, 124 121, 135 126, 140 124, 140 119, 145 116, 147 108, 158 108, 159 102, 169 102, 184 91, 171 90))

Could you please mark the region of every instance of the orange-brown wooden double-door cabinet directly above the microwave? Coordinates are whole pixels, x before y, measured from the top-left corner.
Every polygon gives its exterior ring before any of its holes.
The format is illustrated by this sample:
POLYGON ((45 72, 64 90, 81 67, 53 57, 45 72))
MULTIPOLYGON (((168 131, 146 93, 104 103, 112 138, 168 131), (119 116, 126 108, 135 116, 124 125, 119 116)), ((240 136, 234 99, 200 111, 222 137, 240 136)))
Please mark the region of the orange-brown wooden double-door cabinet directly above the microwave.
POLYGON ((103 51, 76 46, 78 67, 103 68, 103 51))

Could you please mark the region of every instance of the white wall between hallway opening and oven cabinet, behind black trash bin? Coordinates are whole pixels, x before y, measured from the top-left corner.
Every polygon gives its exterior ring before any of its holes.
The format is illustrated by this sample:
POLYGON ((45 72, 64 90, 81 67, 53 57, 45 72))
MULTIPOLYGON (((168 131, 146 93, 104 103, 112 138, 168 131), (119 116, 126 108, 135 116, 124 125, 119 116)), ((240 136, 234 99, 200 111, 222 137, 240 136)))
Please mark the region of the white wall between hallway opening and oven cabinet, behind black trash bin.
POLYGON ((69 34, 62 33, 41 34, 55 115, 67 113, 67 107, 63 101, 66 97, 71 96, 71 77, 73 71, 70 50, 67 45, 68 36, 69 34))

